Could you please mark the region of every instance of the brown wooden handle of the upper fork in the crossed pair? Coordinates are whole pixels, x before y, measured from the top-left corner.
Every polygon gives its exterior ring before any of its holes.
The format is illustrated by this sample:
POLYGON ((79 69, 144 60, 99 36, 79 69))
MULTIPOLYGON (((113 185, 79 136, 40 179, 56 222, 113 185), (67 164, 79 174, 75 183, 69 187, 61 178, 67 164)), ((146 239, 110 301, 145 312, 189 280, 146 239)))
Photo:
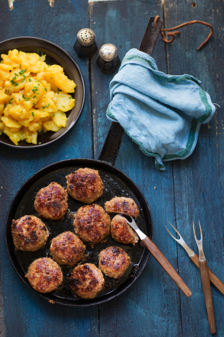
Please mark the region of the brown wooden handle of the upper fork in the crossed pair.
POLYGON ((207 316, 208 316, 208 321, 209 321, 209 329, 210 329, 211 334, 214 334, 216 332, 216 327, 215 327, 215 317, 214 317, 214 310, 213 310, 213 304, 212 304, 212 293, 211 293, 207 261, 199 262, 199 270, 200 270, 201 284, 202 284, 204 298, 205 298, 207 316))

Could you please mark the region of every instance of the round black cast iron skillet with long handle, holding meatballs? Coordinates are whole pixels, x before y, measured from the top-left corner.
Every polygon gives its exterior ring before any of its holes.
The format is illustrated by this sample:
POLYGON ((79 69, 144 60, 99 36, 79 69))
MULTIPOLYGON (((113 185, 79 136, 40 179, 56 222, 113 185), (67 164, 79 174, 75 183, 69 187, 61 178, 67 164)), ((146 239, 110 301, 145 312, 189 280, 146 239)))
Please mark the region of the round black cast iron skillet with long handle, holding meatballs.
MULTIPOLYGON (((148 52, 150 54, 152 53, 154 44, 162 26, 162 21, 158 20, 158 25, 155 28, 152 28, 151 24, 153 20, 154 18, 150 18, 141 43, 142 46, 142 44, 147 42, 147 49, 144 49, 140 46, 142 51, 148 52), (148 41, 149 38, 150 40, 148 41), (148 45, 150 45, 150 50, 148 49, 148 45)), ((58 182, 63 187, 65 187, 65 176, 73 171, 76 171, 80 167, 89 167, 99 171, 99 175, 105 188, 103 195, 95 202, 96 204, 99 204, 103 207, 105 201, 110 200, 115 196, 127 196, 133 198, 140 209, 140 215, 138 216, 136 223, 151 240, 153 239, 152 216, 144 195, 129 177, 114 167, 123 136, 124 130, 120 124, 114 122, 111 123, 98 160, 69 159, 51 164, 35 173, 18 190, 11 203, 6 219, 6 247, 13 267, 20 278, 31 289, 33 288, 25 278, 25 274, 30 263, 36 258, 50 256, 49 247, 52 237, 55 237, 64 231, 73 231, 73 213, 84 204, 69 197, 69 208, 64 219, 59 221, 43 220, 49 229, 50 238, 48 239, 46 245, 37 252, 23 252, 15 250, 11 236, 11 221, 12 219, 18 219, 23 215, 37 216, 37 213, 33 207, 34 198, 37 191, 53 181, 58 182)), ((111 217, 113 216, 114 215, 111 217)), ((70 306, 90 306, 108 301, 124 292, 141 274, 148 261, 149 252, 147 249, 141 246, 140 243, 137 243, 135 246, 122 245, 119 242, 113 240, 111 236, 108 235, 106 242, 95 244, 94 247, 86 244, 85 257, 82 259, 82 263, 94 263, 98 267, 98 254, 100 250, 111 245, 119 246, 125 249, 129 254, 132 263, 124 276, 118 280, 105 277, 105 286, 95 299, 80 299, 72 292, 69 286, 69 276, 73 268, 68 266, 61 266, 63 273, 63 283, 57 290, 55 290, 55 292, 38 294, 51 303, 60 303, 70 306)))

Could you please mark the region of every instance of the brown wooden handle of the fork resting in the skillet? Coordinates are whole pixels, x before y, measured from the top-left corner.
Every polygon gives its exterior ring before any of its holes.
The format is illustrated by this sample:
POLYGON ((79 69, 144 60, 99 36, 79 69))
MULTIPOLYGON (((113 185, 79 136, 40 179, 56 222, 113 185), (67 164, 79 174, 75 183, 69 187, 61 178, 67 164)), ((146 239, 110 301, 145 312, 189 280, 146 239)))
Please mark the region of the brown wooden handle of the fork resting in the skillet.
POLYGON ((152 256, 156 259, 157 262, 163 267, 167 274, 174 280, 182 292, 187 296, 191 296, 192 293, 188 286, 184 283, 182 278, 177 274, 175 269, 171 266, 166 257, 161 253, 159 248, 150 240, 148 237, 141 241, 143 245, 150 251, 152 256))

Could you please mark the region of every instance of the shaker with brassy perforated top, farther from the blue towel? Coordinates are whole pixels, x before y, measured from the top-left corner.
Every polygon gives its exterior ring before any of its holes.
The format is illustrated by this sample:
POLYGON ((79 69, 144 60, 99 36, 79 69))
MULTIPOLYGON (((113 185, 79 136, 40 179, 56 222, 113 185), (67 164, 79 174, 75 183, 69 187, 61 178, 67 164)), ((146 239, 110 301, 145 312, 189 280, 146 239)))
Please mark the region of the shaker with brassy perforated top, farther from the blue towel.
POLYGON ((80 29, 74 49, 78 57, 92 57, 97 50, 94 31, 89 28, 80 29))

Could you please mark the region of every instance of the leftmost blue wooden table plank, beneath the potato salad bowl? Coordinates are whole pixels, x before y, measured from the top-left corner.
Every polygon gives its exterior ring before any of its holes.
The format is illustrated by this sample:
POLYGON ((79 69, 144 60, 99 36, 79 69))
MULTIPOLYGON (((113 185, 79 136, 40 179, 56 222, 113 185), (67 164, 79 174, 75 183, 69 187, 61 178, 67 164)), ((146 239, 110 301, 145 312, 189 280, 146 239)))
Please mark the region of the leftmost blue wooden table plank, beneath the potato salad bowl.
POLYGON ((3 282, 6 336, 98 336, 98 308, 53 305, 40 298, 19 279, 4 243, 4 224, 10 202, 24 181, 42 167, 62 159, 92 158, 92 125, 89 99, 89 61, 78 59, 73 49, 77 32, 88 27, 88 1, 19 0, 9 11, 1 3, 1 39, 37 36, 57 43, 79 64, 86 83, 86 104, 68 134, 44 148, 17 150, 0 145, 1 277, 3 282), (24 23, 24 24, 23 24, 24 23), (11 178, 10 178, 11 177, 11 178))

